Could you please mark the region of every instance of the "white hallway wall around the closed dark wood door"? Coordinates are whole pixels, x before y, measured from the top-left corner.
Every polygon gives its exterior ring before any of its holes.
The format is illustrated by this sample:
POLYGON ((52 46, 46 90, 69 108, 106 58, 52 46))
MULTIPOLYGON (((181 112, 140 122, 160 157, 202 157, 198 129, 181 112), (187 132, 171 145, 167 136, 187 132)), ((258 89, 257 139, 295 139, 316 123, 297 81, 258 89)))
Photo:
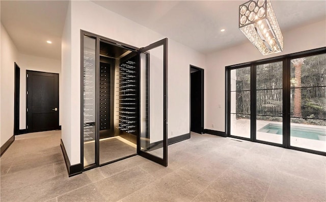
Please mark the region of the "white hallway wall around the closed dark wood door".
MULTIPOLYGON (((26 129, 26 70, 59 73, 59 104, 61 103, 61 60, 18 54, 20 68, 19 97, 19 129, 26 129)), ((61 108, 59 106, 59 124, 61 124, 61 108)))

